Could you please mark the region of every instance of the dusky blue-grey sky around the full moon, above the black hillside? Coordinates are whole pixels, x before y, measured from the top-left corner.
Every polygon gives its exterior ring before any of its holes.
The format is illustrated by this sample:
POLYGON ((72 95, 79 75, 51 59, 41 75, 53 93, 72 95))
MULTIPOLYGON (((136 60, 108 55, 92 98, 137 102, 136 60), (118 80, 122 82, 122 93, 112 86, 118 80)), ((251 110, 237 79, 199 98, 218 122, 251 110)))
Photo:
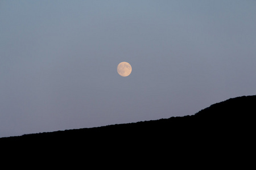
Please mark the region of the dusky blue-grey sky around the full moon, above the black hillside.
POLYGON ((254 0, 2 0, 0 137, 192 115, 255 95, 255 47, 254 0))

